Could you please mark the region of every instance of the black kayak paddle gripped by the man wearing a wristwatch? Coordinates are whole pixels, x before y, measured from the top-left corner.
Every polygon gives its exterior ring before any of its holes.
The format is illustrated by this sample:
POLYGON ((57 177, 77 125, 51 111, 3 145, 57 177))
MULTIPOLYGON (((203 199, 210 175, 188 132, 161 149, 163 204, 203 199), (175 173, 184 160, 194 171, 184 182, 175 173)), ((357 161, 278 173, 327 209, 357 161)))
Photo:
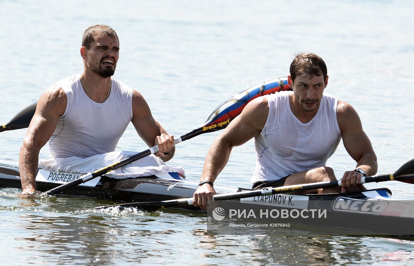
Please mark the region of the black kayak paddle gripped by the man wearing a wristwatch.
MULTIPOLYGON (((414 184, 414 159, 403 164, 400 167, 400 169, 395 171, 394 174, 380 174, 380 175, 375 175, 372 177, 362 177, 360 184, 371 183, 371 182, 391 181, 391 180, 414 184)), ((235 192, 235 193, 217 194, 217 195, 214 195, 214 200, 215 201, 227 201, 227 200, 234 200, 234 199, 240 199, 240 198, 268 196, 268 195, 273 195, 276 193, 290 193, 290 192, 296 192, 296 191, 306 191, 310 189, 323 189, 323 188, 335 187, 335 186, 341 186, 341 180, 325 181, 325 182, 317 182, 317 183, 293 185, 293 186, 281 186, 281 187, 272 188, 272 189, 261 189, 261 190, 253 190, 253 191, 242 191, 242 192, 235 192)), ((169 200, 169 201, 122 203, 122 204, 116 204, 116 205, 96 207, 93 209, 99 210, 99 209, 106 209, 106 208, 111 208, 111 207, 118 207, 120 210, 122 210, 124 208, 134 207, 134 208, 144 209, 144 210, 158 210, 162 208, 173 208, 173 207, 188 206, 188 205, 193 205, 193 198, 182 198, 182 199, 169 200)))

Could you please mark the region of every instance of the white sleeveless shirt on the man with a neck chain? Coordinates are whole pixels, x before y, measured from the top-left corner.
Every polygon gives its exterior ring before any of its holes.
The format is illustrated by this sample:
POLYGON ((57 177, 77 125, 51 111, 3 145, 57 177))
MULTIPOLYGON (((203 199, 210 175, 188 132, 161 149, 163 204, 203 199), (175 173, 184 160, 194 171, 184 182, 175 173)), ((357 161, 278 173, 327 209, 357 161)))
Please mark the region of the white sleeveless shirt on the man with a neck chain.
POLYGON ((130 87, 111 78, 108 99, 97 103, 87 96, 79 76, 54 84, 66 93, 67 106, 49 139, 50 157, 87 158, 112 152, 132 119, 130 87))

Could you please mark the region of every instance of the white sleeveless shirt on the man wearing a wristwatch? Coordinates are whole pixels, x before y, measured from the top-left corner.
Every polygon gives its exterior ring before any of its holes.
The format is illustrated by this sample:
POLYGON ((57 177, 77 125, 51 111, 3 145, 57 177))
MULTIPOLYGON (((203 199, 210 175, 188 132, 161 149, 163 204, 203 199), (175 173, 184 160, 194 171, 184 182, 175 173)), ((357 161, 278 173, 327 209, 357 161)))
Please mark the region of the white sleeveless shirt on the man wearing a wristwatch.
POLYGON ((290 108, 290 93, 293 92, 264 96, 269 104, 269 115, 262 132, 255 137, 253 184, 276 181, 290 174, 325 166, 341 140, 337 98, 324 93, 315 117, 302 123, 290 108))

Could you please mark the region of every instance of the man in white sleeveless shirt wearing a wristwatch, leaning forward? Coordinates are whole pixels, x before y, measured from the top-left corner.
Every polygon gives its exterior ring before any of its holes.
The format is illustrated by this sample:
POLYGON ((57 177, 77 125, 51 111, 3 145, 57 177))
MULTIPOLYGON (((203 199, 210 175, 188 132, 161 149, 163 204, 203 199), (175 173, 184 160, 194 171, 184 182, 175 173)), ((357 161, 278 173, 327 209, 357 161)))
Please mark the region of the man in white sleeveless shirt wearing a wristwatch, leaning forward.
POLYGON ((364 190, 364 175, 377 172, 377 158, 361 120, 348 103, 325 94, 325 62, 314 53, 300 53, 290 66, 292 91, 277 92, 251 101, 214 140, 204 164, 195 206, 207 210, 215 194, 213 182, 229 160, 231 149, 255 138, 256 169, 253 189, 337 180, 326 167, 341 138, 356 169, 342 176, 342 188, 303 193, 364 190), (358 185, 359 184, 359 185, 358 185))

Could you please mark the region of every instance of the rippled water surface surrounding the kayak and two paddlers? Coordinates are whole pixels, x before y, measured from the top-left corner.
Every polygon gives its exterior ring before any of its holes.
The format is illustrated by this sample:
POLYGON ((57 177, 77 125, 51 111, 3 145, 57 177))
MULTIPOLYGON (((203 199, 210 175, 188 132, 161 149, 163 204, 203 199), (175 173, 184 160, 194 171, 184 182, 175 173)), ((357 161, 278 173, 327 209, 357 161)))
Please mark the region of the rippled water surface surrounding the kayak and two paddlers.
MULTIPOLYGON (((108 24, 120 39, 115 77, 139 90, 173 135, 201 126, 224 100, 286 76, 292 54, 324 58, 326 92, 358 111, 378 156, 378 173, 413 158, 414 37, 411 1, 2 1, 0 123, 54 82, 82 72, 83 31, 108 24)), ((0 159, 18 160, 25 130, 1 133, 0 159)), ((198 180, 208 133, 177 145, 172 165, 198 180)), ((147 147, 130 125, 118 150, 147 147)), ((41 150, 48 156, 48 148, 41 150)), ((217 184, 250 186, 253 142, 233 149, 217 184)), ((355 162, 343 145, 328 160, 340 176, 355 162)), ((387 187, 412 198, 412 185, 387 187)), ((0 255, 8 265, 282 264, 407 265, 414 242, 384 237, 263 231, 214 235, 206 215, 180 210, 94 213, 85 198, 16 198, 0 190, 0 255)))

